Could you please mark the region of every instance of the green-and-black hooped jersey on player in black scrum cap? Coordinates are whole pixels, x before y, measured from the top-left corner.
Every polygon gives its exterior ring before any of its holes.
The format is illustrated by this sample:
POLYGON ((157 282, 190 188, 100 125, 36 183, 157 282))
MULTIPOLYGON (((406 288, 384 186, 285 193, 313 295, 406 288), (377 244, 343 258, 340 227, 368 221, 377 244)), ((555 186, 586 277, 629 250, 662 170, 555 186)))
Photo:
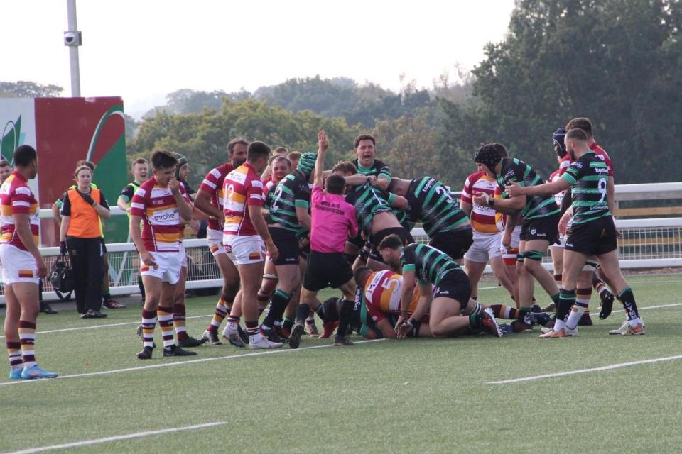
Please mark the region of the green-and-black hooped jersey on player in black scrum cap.
MULTIPOLYGON (((536 174, 535 170, 526 162, 516 158, 503 157, 502 169, 497 175, 497 185, 502 189, 502 199, 507 199, 507 192, 504 188, 509 182, 515 182, 519 186, 537 186, 543 184, 544 181, 540 175, 536 174)), ((521 210, 521 216, 524 216, 524 221, 531 221, 531 219, 544 218, 559 213, 559 207, 556 205, 554 196, 526 196, 526 206, 521 210)))

